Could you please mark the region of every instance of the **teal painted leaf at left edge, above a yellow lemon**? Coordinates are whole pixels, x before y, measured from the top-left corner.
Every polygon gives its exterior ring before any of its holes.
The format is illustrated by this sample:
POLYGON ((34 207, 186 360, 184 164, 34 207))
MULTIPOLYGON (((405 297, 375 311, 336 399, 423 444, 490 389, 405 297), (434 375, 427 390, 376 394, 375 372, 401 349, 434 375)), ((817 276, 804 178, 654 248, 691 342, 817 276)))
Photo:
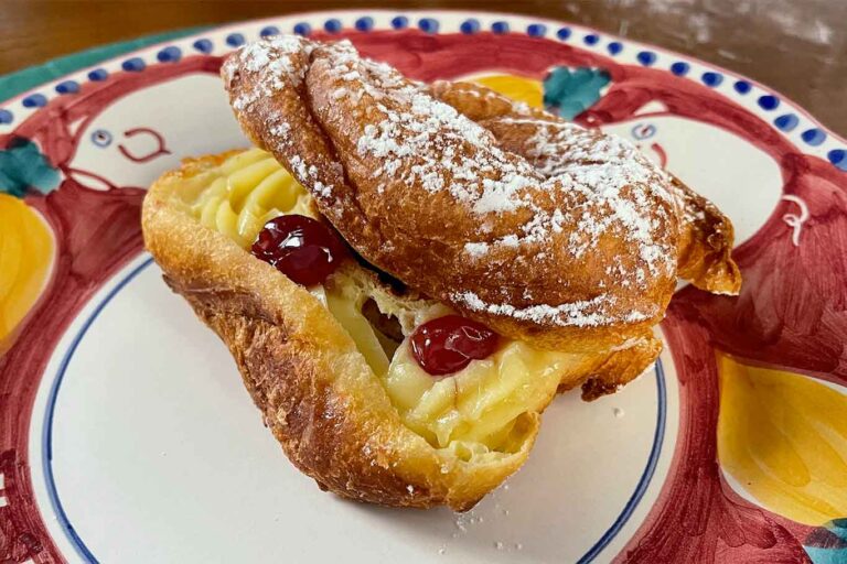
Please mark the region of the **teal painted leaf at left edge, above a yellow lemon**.
POLYGON ((58 182, 58 171, 29 139, 17 138, 0 151, 0 192, 22 198, 28 189, 46 194, 58 182))

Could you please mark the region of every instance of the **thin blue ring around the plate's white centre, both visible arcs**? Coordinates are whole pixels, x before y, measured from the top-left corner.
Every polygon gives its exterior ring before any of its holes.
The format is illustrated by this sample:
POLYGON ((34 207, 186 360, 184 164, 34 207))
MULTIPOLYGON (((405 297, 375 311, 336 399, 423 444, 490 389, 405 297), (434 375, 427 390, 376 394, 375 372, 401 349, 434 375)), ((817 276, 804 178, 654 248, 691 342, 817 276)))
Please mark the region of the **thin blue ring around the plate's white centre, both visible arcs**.
MULTIPOLYGON (((71 359, 74 356, 74 352, 76 352, 76 348, 79 346, 79 343, 82 341, 83 337, 87 334, 90 326, 94 324, 94 322, 97 319, 97 317, 100 315, 103 310, 111 302, 111 300, 120 292, 124 288, 126 288, 129 282, 131 282, 138 274, 141 273, 142 270, 144 270, 147 267, 149 267, 153 262, 153 259, 147 259, 144 262, 136 267, 127 276, 121 280, 114 289, 109 291, 109 293, 104 297, 104 300, 97 305, 97 307, 94 310, 92 315, 86 319, 83 327, 79 329, 79 333, 74 337, 74 340, 71 344, 71 347, 68 348, 67 352, 65 354, 64 358, 62 359, 62 364, 58 367, 58 371, 56 373, 56 379, 53 382, 50 395, 47 397, 47 406, 46 412, 44 415, 44 431, 42 433, 42 452, 43 452, 43 468, 44 468, 44 476, 46 479, 46 486, 47 486, 47 495, 51 501, 51 505, 53 506, 53 509, 56 513, 57 520, 60 525, 62 527, 63 531, 67 535, 71 543, 76 549, 77 554, 83 557, 86 562, 90 562, 94 564, 98 564, 98 560, 94 556, 92 551, 86 546, 85 542, 83 542, 82 538, 76 533, 76 530, 71 524, 69 519, 67 518, 67 513, 65 512, 64 507, 62 506, 62 501, 58 498, 58 491, 56 490, 56 484, 55 478, 53 476, 53 448, 52 448, 52 441, 53 441, 53 415, 55 411, 56 405, 56 397, 58 394, 58 390, 62 386, 62 381, 65 376, 65 371, 67 370, 68 365, 71 364, 71 359)), ((635 507, 639 505, 641 499, 644 497, 644 492, 647 489, 647 486, 650 485, 650 481, 653 478, 653 474, 655 473, 656 464, 658 462, 658 456, 662 452, 662 441, 664 438, 665 433, 665 416, 666 416, 666 392, 665 392, 665 372, 662 368, 662 361, 656 361, 656 389, 658 391, 658 413, 656 417, 656 430, 653 434, 653 447, 651 448, 650 457, 647 459, 647 466, 644 469, 644 473, 641 476, 641 479, 639 480, 637 486, 635 487, 635 491, 632 494, 630 499, 626 501, 626 505, 624 506, 623 510, 621 511, 621 514, 618 517, 618 519, 614 520, 612 525, 603 533, 603 535, 600 538, 599 541, 594 543, 591 549, 579 560, 578 564, 588 564, 591 562, 602 550, 614 539, 614 536, 620 532, 620 530, 623 528, 623 525, 626 523, 626 521, 632 516, 632 512, 635 510, 635 507)))

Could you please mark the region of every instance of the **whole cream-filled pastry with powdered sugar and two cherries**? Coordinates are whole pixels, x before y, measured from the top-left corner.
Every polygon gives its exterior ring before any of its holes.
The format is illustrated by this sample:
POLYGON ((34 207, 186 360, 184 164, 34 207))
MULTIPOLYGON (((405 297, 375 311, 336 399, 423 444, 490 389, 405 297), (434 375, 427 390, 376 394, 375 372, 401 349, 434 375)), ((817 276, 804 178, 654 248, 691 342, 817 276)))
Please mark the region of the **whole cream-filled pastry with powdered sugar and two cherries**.
POLYGON ((655 360, 677 278, 738 293, 729 220, 617 137, 349 42, 262 40, 222 75, 256 148, 157 181, 144 240, 323 489, 469 509, 557 391, 655 360))

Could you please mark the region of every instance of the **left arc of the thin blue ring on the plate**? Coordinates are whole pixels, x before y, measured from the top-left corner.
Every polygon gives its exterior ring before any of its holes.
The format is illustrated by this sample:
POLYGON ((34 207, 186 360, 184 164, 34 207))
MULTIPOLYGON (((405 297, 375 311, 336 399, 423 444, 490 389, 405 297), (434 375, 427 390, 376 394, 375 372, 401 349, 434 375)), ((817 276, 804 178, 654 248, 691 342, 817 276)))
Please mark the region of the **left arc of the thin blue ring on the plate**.
POLYGON ((76 549, 77 554, 85 560, 86 562, 90 562, 94 564, 98 564, 98 560, 92 554, 92 551, 88 550, 88 546, 85 545, 83 540, 79 538, 79 535, 76 533, 76 530, 74 529, 74 525, 71 524, 71 521, 67 519, 67 513, 65 513, 65 508, 62 506, 62 501, 58 499, 58 492, 56 491, 56 482, 53 477, 53 413, 55 411, 56 406, 56 395, 58 394, 58 389, 62 386, 62 380, 65 377, 65 371, 67 370, 68 364, 71 364, 71 358, 74 356, 74 352, 76 351, 76 347, 79 346, 79 341, 83 340, 83 337, 85 337, 85 334, 88 333, 88 329, 90 328, 92 324, 97 319, 97 317, 100 315, 100 312, 111 302, 111 299, 117 295, 118 292, 120 292, 127 284, 129 284, 132 279, 135 279, 139 273, 141 273, 142 270, 144 270, 147 267, 149 267, 153 262, 153 259, 147 259, 144 262, 132 269, 132 271, 127 274, 127 276, 121 280, 118 285, 112 288, 109 293, 106 295, 106 297, 97 304, 97 307, 94 310, 90 316, 88 316, 88 319, 86 319, 85 325, 83 325, 83 328, 79 329, 79 333, 76 334, 74 337, 73 343, 71 344, 71 347, 67 349, 67 352, 65 352, 64 358, 62 359, 62 364, 58 367, 58 371, 56 372, 56 379, 53 381, 53 384, 50 388, 50 395, 47 397, 47 409, 44 414, 44 431, 42 432, 42 466, 44 469, 44 477, 47 482, 47 496, 50 497, 50 502, 53 506, 53 511, 56 514, 56 519, 58 520, 60 525, 62 525, 62 529, 65 531, 65 534, 67 535, 71 543, 76 549))

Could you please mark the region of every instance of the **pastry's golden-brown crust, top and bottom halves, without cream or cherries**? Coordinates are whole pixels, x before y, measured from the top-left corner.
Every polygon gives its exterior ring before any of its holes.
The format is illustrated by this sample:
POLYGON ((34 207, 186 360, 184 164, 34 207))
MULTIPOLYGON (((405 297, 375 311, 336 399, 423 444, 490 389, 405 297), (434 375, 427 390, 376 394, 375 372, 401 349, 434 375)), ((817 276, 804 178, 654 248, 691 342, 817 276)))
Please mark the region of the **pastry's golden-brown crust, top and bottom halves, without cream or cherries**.
MULTIPOLYGON (((712 291, 738 290, 726 217, 618 140, 472 85, 428 89, 362 62, 352 47, 275 41, 223 70, 248 137, 291 171, 368 261, 506 336, 569 352, 561 390, 581 386, 594 399, 655 359, 661 343, 650 328, 677 273, 712 291), (432 106, 440 102, 427 93, 482 128, 432 106), (435 139, 435 152, 380 137, 394 118, 435 139), (554 138, 536 153, 527 145, 554 138), (457 167, 462 159, 470 164, 457 167), (426 170, 433 162, 442 175, 435 184, 426 170), (457 196, 463 174, 497 185, 496 197, 457 196), (512 193, 517 199, 504 202, 512 193)), ((313 295, 193 219, 175 193, 226 156, 189 161, 151 187, 144 240, 168 284, 232 351, 289 459, 346 498, 457 510, 517 470, 539 413, 516 420, 514 452, 467 462, 433 448, 403 423, 350 335, 313 295)))

